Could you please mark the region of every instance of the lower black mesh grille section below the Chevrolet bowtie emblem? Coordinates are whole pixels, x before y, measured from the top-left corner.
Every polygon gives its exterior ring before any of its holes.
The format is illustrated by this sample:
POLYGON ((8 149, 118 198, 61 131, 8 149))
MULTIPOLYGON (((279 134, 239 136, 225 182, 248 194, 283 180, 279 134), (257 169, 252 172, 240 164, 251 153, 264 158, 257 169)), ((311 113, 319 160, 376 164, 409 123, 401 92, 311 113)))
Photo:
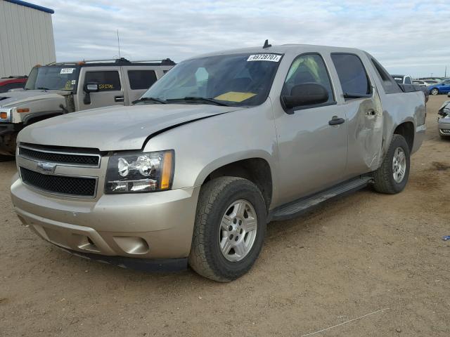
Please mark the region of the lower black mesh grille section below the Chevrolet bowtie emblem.
POLYGON ((49 176, 23 167, 20 168, 20 176, 27 185, 46 192, 81 197, 94 197, 96 193, 96 178, 49 176))

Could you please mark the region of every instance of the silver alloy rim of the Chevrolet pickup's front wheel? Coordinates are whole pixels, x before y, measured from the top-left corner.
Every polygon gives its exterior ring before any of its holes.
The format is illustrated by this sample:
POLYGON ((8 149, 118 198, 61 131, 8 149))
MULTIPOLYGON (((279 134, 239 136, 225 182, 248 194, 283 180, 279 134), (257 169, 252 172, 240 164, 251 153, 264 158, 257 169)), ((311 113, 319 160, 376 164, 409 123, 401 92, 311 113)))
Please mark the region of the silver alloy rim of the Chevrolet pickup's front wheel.
POLYGON ((255 244, 257 216, 250 202, 234 201, 225 211, 219 228, 220 251, 226 260, 238 262, 255 244))

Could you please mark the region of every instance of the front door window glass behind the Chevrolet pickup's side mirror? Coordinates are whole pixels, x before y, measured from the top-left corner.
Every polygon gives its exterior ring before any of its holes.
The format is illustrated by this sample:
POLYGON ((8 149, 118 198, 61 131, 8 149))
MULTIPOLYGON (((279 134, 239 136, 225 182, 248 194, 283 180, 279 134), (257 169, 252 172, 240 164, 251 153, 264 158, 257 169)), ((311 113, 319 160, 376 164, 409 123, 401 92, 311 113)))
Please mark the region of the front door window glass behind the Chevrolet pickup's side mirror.
POLYGON ((326 103, 335 101, 325 62, 319 54, 304 54, 294 60, 285 79, 282 94, 290 95, 293 87, 307 83, 320 84, 326 88, 328 91, 326 103))

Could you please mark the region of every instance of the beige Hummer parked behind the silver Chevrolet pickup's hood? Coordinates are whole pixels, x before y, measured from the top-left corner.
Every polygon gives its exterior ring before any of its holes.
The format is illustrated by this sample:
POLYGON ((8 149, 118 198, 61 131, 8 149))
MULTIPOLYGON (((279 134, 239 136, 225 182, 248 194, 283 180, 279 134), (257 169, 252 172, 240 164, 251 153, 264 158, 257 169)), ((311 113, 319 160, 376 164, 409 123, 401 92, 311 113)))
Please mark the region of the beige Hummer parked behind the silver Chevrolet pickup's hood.
POLYGON ((129 105, 174 65, 168 58, 135 62, 120 58, 33 67, 23 91, 0 94, 0 154, 13 155, 18 132, 37 121, 129 105))

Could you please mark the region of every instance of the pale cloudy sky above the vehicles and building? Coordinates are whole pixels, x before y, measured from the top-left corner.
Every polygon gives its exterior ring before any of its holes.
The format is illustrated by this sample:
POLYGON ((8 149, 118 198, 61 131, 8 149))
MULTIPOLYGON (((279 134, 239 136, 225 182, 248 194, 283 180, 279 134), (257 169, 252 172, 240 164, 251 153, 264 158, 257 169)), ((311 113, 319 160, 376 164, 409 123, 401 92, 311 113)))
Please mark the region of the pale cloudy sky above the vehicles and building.
POLYGON ((448 0, 30 0, 52 8, 58 61, 171 58, 278 44, 368 51, 391 73, 450 76, 448 0))

